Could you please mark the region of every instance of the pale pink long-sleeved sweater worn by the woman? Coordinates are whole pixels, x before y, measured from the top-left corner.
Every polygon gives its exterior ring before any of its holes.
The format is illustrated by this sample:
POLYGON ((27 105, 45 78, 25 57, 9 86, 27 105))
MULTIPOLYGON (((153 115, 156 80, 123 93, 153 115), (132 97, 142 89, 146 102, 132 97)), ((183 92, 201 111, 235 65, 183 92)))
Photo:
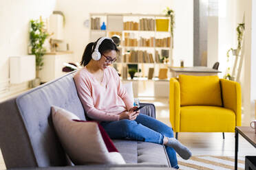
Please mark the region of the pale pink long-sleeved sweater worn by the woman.
POLYGON ((87 116, 96 121, 118 121, 119 114, 133 107, 116 70, 110 66, 100 83, 86 67, 74 75, 78 96, 87 116), (107 84, 107 86, 106 86, 107 84))

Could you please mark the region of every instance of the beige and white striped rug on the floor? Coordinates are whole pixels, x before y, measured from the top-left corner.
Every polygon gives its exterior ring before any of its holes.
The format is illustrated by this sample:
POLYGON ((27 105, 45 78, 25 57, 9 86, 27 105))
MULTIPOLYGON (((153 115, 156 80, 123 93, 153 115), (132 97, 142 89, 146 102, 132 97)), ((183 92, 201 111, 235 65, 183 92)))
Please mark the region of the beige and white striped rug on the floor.
MULTIPOLYGON (((230 170, 235 169, 234 156, 192 156, 189 160, 183 160, 178 156, 180 170, 230 170)), ((238 158, 238 169, 244 169, 244 157, 238 158)))

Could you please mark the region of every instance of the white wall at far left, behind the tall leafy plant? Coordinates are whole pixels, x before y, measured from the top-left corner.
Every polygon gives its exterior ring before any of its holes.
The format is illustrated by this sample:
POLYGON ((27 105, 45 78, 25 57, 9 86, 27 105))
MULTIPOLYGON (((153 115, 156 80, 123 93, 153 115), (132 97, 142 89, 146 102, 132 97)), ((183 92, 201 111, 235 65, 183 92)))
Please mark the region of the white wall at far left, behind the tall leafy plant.
POLYGON ((50 16, 55 3, 54 0, 0 0, 0 96, 10 85, 9 57, 28 54, 29 21, 50 16))

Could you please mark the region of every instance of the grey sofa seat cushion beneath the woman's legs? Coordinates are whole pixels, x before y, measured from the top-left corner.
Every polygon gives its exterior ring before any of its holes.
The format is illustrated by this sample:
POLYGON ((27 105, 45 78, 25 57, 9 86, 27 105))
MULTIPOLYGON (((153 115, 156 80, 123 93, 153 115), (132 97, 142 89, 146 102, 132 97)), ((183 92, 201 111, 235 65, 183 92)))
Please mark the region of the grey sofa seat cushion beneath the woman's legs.
POLYGON ((169 158, 163 145, 127 140, 113 140, 113 143, 127 163, 170 167, 169 158))

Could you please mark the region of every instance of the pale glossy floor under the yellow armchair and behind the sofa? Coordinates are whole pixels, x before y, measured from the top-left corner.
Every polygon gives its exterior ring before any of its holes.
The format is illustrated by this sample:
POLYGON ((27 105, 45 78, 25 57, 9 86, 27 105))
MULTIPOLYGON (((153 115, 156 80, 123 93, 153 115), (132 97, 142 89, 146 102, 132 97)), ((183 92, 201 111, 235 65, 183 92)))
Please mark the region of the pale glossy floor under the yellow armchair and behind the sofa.
MULTIPOLYGON (((140 97, 140 102, 153 103, 156 106, 156 118, 163 123, 169 123, 168 99, 154 97, 140 97)), ((235 156, 234 133, 179 133, 179 141, 189 147, 194 156, 235 156)), ((242 136, 239 136, 239 156, 256 155, 256 149, 242 136)), ((2 156, 0 156, 0 169, 6 169, 2 156)))

